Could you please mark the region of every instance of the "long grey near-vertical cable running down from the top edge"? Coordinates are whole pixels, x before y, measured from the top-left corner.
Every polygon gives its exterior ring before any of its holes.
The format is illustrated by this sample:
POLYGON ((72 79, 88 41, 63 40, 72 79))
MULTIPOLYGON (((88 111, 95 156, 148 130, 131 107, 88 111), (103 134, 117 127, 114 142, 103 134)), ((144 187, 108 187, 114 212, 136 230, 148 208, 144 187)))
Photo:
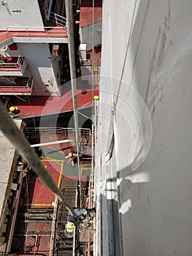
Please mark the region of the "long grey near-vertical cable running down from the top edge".
MULTIPOLYGON (((80 189, 80 148, 79 148, 79 131, 78 131, 78 113, 77 113, 77 83, 76 83, 76 69, 75 69, 75 55, 74 55, 74 26, 73 26, 73 10, 72 0, 65 1, 66 7, 66 27, 69 47, 69 65, 72 83, 72 99, 74 109, 74 128, 75 128, 75 140, 77 146, 77 170, 79 176, 79 191, 81 200, 81 189, 80 189)), ((81 203, 80 203, 81 208, 81 203)))

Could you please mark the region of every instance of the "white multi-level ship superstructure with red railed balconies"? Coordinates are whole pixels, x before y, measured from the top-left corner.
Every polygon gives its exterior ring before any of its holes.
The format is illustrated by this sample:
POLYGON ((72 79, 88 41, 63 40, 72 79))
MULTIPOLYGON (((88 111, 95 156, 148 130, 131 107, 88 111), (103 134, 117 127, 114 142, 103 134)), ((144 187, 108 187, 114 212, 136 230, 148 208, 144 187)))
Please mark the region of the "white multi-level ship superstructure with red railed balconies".
POLYGON ((0 95, 60 95, 64 1, 0 2, 0 95))

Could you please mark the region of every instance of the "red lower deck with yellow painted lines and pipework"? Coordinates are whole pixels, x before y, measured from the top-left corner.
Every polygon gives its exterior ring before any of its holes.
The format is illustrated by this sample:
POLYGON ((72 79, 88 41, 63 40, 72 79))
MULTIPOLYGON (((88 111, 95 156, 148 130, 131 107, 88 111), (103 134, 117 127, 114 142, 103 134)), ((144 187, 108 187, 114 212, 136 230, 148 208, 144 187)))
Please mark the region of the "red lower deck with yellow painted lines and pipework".
MULTIPOLYGON (((73 135, 70 136, 71 139, 73 135)), ((57 139, 64 139, 63 135, 57 135, 57 139)), ((55 135, 42 136, 41 143, 55 140, 55 135)), ((69 153, 73 143, 60 143, 51 146, 43 146, 37 149, 37 154, 45 166, 45 169, 55 181, 58 188, 64 192, 66 200, 71 207, 77 206, 77 165, 67 161, 65 156, 69 153)), ((86 183, 91 173, 91 165, 81 165, 81 181, 86 183)), ((66 223, 67 211, 62 204, 58 205, 56 221, 53 222, 53 214, 57 200, 53 192, 47 188, 41 178, 36 173, 30 171, 26 176, 26 182, 23 183, 23 193, 21 195, 20 207, 18 210, 18 222, 15 228, 15 235, 12 243, 13 252, 19 254, 33 253, 49 255, 50 237, 53 228, 57 225, 56 237, 58 238, 58 251, 66 251, 65 255, 72 253, 73 241, 67 240, 68 246, 60 240, 64 240, 64 224, 66 223), (38 217, 37 217, 38 216, 38 217), (60 241, 60 243, 59 243, 60 241)), ((86 231, 84 230, 84 236, 86 231)), ((62 241, 63 241, 62 240, 62 241)), ((56 243, 56 240, 54 240, 56 243)))

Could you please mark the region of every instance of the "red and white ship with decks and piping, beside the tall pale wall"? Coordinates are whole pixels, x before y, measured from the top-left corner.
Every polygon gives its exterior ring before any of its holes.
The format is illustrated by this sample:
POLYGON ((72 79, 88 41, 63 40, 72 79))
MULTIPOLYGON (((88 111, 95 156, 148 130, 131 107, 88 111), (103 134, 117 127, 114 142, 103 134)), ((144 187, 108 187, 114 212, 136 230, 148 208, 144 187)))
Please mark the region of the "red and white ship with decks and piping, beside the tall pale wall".
POLYGON ((91 115, 99 94, 101 1, 95 6, 71 1, 79 127, 73 119, 65 1, 0 4, 1 102, 69 208, 80 211, 77 219, 70 216, 2 132, 1 255, 91 255, 96 232, 91 115), (69 157, 77 155, 77 147, 80 165, 69 157))

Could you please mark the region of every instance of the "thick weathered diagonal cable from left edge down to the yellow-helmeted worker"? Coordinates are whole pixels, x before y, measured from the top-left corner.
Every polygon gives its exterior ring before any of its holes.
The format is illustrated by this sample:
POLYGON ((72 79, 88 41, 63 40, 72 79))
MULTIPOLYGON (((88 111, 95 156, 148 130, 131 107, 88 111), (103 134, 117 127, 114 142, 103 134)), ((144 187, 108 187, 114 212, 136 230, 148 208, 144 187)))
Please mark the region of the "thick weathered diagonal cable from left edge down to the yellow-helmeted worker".
POLYGON ((56 195, 56 197, 58 197, 58 199, 61 200, 62 203, 64 203, 66 209, 69 211, 70 214, 72 214, 72 217, 74 217, 75 224, 79 226, 77 224, 77 217, 72 211, 72 208, 69 206, 69 203, 67 203, 63 193, 55 185, 53 178, 50 176, 49 173, 47 173, 47 170, 42 165, 42 162, 34 151, 34 148, 31 148, 31 145, 28 143, 25 135, 20 132, 15 122, 9 116, 7 110, 4 108, 4 103, 1 102, 1 100, 0 118, 1 120, 3 120, 0 122, 1 131, 12 143, 12 146, 17 149, 18 153, 23 157, 23 159, 25 159, 26 162, 28 162, 32 169, 37 173, 37 175, 42 178, 42 181, 45 182, 47 187, 49 187, 49 189, 56 195))

